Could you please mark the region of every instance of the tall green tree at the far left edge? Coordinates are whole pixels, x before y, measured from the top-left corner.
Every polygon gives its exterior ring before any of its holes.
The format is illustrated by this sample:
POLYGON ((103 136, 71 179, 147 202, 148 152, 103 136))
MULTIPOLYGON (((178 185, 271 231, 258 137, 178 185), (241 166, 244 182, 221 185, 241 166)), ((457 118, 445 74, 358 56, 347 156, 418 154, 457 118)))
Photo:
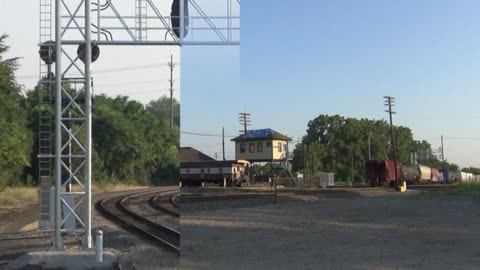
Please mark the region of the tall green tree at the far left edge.
POLYGON ((7 36, 0 36, 0 190, 18 182, 25 166, 30 165, 32 136, 27 129, 24 98, 16 83, 17 58, 4 59, 7 36))

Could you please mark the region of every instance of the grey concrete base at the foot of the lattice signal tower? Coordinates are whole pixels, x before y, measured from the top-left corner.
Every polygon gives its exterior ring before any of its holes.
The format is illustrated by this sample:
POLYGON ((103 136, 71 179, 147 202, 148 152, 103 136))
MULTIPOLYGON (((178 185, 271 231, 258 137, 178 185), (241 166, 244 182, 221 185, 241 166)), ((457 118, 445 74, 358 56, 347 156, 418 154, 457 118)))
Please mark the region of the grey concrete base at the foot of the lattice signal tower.
POLYGON ((117 255, 114 251, 104 251, 103 262, 99 263, 95 261, 94 250, 52 250, 29 252, 9 262, 6 269, 100 270, 117 269, 117 265, 117 255))

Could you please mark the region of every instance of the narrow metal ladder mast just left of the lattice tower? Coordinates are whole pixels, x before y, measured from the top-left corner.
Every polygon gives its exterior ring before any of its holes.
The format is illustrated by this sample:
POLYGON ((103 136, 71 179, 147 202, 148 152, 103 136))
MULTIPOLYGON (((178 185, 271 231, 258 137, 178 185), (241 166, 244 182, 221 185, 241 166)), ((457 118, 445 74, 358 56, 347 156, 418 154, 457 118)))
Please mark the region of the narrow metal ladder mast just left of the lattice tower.
MULTIPOLYGON (((40 0, 39 16, 39 42, 40 44, 52 40, 52 0, 40 0)), ((50 67, 39 59, 40 80, 47 78, 50 67)), ((52 112, 53 91, 50 83, 40 84, 40 112, 38 121, 38 181, 41 188, 39 192, 39 229, 51 229, 50 224, 50 193, 49 186, 52 174, 52 112)))

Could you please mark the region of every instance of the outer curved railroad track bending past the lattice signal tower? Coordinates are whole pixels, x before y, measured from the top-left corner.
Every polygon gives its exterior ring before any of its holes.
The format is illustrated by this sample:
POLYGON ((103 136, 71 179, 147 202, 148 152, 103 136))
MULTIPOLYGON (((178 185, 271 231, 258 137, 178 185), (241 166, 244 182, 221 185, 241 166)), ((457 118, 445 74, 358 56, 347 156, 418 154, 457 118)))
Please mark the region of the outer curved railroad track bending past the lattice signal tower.
POLYGON ((127 207, 128 201, 135 198, 146 197, 149 195, 153 196, 153 194, 158 193, 160 194, 155 197, 160 198, 177 191, 178 189, 155 190, 137 192, 133 195, 120 195, 103 199, 99 201, 96 206, 97 209, 109 219, 123 225, 127 229, 134 230, 170 251, 179 254, 180 232, 164 224, 153 222, 127 207))

